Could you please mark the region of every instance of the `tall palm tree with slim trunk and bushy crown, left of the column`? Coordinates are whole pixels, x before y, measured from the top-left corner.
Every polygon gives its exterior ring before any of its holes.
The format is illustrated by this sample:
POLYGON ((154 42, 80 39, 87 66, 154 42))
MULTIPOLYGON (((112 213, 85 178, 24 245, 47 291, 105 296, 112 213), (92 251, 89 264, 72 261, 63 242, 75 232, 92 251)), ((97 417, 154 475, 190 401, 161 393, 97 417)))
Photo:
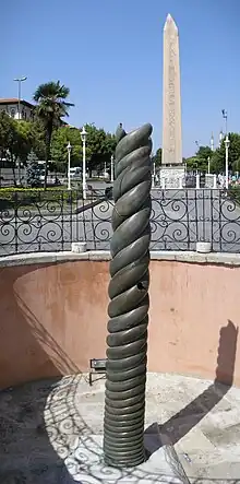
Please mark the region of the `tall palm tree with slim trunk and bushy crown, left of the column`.
POLYGON ((65 102, 69 93, 69 87, 61 85, 60 81, 40 84, 34 93, 34 101, 37 103, 36 114, 43 121, 46 134, 45 189, 47 188, 52 131, 60 126, 62 117, 69 116, 69 108, 74 106, 65 102))

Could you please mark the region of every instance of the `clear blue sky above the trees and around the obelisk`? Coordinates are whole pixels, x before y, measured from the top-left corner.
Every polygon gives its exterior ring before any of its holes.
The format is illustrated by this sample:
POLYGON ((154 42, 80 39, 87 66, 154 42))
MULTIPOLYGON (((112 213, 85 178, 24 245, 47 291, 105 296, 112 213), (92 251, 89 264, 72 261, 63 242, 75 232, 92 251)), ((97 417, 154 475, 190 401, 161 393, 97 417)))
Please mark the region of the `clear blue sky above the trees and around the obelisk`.
POLYGON ((1 0, 0 97, 23 97, 60 80, 75 104, 70 123, 129 131, 154 126, 161 143, 163 26, 171 13, 180 35, 183 155, 195 140, 217 142, 227 109, 240 123, 239 0, 1 0), (4 40, 4 47, 3 47, 4 40))

